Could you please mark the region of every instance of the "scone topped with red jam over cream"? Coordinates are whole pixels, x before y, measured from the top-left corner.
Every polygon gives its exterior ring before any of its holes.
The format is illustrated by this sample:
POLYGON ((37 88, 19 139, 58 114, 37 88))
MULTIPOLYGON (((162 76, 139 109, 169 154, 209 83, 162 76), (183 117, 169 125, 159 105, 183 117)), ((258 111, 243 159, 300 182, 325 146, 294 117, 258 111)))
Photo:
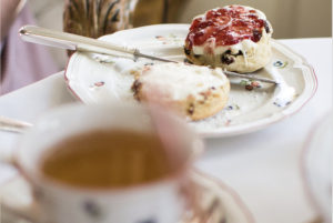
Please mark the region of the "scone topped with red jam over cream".
POLYGON ((271 59, 272 32, 260 10, 243 6, 212 9, 193 19, 184 52, 194 64, 253 72, 271 59))

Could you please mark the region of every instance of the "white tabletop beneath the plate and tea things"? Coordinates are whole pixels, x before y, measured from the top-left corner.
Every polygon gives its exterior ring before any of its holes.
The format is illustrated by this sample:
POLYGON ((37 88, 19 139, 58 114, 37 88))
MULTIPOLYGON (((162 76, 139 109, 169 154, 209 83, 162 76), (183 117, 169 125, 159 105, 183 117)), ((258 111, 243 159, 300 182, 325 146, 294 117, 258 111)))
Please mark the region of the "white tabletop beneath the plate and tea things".
MULTIPOLYGON (((198 161, 202 171, 234 189, 258 223, 310 223, 312 207, 301 174, 301 153, 313 124, 332 110, 332 39, 279 40, 303 55, 314 68, 319 88, 296 114, 264 130, 206 140, 198 161)), ((0 98, 0 115, 33 122, 60 104, 77 101, 68 91, 63 73, 0 98)), ((0 152, 14 149, 18 135, 0 133, 0 152)), ((0 164, 0 185, 16 171, 0 164)))

